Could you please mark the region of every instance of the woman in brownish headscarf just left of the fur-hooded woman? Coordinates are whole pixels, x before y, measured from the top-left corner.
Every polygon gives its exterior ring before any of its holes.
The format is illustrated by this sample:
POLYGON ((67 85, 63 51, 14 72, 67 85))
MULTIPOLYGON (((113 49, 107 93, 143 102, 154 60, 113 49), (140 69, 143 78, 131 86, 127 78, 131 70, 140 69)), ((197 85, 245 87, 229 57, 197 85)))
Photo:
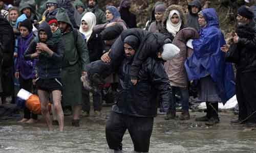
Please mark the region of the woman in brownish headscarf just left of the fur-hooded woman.
POLYGON ((150 28, 148 28, 148 31, 153 33, 157 33, 160 31, 165 10, 166 7, 164 4, 156 5, 154 14, 156 20, 151 23, 150 28))

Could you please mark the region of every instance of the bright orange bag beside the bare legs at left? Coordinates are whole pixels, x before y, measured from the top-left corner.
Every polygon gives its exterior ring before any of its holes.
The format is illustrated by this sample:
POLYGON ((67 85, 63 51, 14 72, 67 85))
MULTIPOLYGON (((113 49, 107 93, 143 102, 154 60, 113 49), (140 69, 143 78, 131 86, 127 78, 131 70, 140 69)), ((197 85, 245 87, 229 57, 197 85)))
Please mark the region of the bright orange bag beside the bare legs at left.
MULTIPOLYGON (((29 96, 26 100, 26 107, 34 114, 41 114, 41 103, 39 97, 35 94, 29 96)), ((49 112, 51 111, 51 104, 49 103, 49 112)))

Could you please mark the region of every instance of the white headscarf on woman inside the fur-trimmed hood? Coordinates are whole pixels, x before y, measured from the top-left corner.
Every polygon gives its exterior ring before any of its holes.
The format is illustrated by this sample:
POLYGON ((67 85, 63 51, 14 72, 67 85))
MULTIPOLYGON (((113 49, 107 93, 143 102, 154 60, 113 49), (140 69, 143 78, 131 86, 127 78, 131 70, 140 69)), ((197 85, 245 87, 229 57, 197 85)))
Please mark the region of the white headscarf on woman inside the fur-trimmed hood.
POLYGON ((172 33, 173 36, 175 37, 176 34, 180 31, 181 24, 182 24, 182 21, 181 21, 181 18, 180 18, 180 13, 179 13, 179 11, 177 11, 177 10, 172 10, 172 11, 170 11, 169 17, 168 17, 168 19, 167 19, 167 21, 166 21, 166 29, 167 29, 167 31, 168 31, 169 33, 172 33), (172 21, 170 20, 170 18, 172 18, 172 16, 173 16, 174 14, 177 14, 177 15, 179 16, 180 21, 179 21, 178 24, 173 24, 172 21))

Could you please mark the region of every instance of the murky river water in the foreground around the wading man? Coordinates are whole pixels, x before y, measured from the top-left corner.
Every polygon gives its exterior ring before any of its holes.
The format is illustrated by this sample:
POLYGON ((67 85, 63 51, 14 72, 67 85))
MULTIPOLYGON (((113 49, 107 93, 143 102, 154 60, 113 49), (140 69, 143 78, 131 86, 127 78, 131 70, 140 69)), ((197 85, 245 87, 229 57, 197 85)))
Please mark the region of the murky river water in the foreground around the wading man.
MULTIPOLYGON (((157 120, 157 119, 156 119, 157 120)), ((256 132, 240 126, 205 127, 197 123, 156 121, 150 152, 256 152, 256 132)), ((0 152, 112 152, 105 140, 104 120, 85 119, 80 127, 66 126, 65 132, 47 131, 36 125, 0 122, 0 152)), ((123 138, 123 152, 133 152, 129 133, 123 138)))

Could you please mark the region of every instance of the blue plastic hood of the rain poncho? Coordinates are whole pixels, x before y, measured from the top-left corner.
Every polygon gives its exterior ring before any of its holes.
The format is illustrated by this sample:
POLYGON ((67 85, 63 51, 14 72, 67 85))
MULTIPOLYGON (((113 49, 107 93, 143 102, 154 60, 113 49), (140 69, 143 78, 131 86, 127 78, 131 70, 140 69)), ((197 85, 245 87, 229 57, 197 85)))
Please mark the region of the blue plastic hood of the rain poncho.
POLYGON ((199 13, 205 17, 205 20, 207 22, 206 27, 211 27, 211 26, 219 27, 219 18, 215 9, 213 8, 204 9, 199 13))

